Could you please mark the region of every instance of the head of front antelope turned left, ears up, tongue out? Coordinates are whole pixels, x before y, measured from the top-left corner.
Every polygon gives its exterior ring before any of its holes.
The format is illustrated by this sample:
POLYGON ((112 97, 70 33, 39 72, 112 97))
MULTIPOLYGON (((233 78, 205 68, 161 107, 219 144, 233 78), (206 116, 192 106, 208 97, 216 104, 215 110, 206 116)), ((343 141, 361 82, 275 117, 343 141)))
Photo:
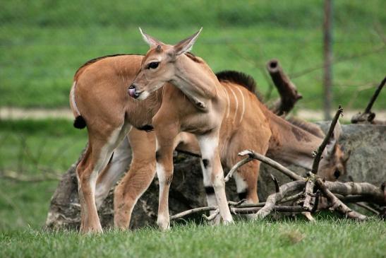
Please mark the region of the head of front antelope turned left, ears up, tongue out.
POLYGON ((145 100, 150 93, 164 86, 164 83, 176 78, 176 60, 192 49, 202 29, 176 45, 166 45, 140 29, 143 40, 150 45, 150 49, 143 58, 139 73, 128 88, 128 94, 138 100, 145 100))

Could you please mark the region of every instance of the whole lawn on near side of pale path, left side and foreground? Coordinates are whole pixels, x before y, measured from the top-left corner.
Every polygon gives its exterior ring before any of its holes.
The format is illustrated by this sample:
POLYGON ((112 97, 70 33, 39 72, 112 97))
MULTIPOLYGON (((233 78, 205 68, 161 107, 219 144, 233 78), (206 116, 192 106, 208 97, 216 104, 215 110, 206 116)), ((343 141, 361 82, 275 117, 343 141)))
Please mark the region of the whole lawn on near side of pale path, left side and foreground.
MULTIPOLYGON (((0 171, 25 176, 64 172, 85 146, 86 131, 61 120, 1 121, 0 171)), ((0 175, 1 175, 0 172, 0 175)), ((57 181, 0 177, 0 257, 385 257, 386 223, 356 223, 322 214, 236 221, 227 227, 176 224, 81 236, 42 229, 57 181)))

